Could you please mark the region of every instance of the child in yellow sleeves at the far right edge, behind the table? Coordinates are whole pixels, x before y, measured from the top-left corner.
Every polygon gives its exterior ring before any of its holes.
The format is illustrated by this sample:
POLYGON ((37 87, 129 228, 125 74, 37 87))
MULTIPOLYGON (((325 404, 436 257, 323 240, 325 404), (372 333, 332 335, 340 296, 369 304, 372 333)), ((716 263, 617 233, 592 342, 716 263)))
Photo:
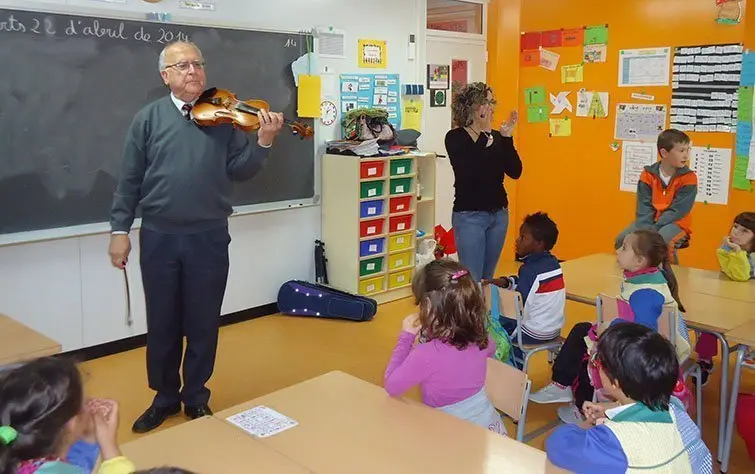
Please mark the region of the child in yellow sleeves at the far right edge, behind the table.
MULTIPOLYGON (((755 278, 755 212, 742 212, 734 218, 729 235, 716 250, 721 271, 733 281, 755 278)), ((713 371, 713 356, 718 354, 716 336, 703 333, 695 346, 702 369, 702 384, 708 383, 713 371)))

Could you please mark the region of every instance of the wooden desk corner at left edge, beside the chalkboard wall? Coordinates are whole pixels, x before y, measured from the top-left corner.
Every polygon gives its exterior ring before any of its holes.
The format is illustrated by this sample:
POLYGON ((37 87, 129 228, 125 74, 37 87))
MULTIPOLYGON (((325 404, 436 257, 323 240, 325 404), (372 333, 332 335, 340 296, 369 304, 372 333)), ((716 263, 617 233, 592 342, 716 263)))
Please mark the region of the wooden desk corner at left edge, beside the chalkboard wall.
POLYGON ((50 356, 60 350, 60 343, 0 314, 0 366, 50 356))

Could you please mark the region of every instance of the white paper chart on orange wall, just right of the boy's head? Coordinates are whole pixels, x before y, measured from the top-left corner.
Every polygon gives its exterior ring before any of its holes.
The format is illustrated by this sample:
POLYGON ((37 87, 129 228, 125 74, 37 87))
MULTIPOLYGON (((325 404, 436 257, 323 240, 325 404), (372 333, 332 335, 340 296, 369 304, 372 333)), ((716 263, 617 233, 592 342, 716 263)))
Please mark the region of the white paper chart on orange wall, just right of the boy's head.
POLYGON ((697 174, 697 202, 729 202, 731 148, 693 146, 690 169, 697 174))

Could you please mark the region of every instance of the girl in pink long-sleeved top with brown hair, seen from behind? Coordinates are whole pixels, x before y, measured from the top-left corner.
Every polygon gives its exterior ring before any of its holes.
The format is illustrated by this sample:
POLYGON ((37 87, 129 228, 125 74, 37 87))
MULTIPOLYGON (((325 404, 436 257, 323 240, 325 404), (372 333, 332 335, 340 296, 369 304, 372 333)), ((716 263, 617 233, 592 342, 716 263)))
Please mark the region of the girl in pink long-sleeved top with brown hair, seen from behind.
POLYGON ((419 385, 426 405, 505 435, 485 392, 487 359, 496 345, 479 285, 459 263, 442 259, 416 273, 412 293, 419 314, 404 319, 385 390, 397 397, 419 385), (426 342, 415 346, 420 330, 426 342))

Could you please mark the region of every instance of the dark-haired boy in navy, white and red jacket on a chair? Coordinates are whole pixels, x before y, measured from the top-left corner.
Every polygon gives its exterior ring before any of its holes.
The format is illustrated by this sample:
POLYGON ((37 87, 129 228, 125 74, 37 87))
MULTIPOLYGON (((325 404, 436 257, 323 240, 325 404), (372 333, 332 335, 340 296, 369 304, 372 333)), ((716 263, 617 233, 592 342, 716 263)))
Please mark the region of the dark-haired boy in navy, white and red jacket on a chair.
POLYGON ((522 332, 524 344, 552 341, 564 326, 566 290, 561 264, 551 254, 558 240, 558 227, 548 214, 538 212, 524 218, 516 239, 516 257, 522 261, 518 276, 483 280, 518 291, 524 301, 522 326, 501 316, 501 326, 510 336, 522 332))

